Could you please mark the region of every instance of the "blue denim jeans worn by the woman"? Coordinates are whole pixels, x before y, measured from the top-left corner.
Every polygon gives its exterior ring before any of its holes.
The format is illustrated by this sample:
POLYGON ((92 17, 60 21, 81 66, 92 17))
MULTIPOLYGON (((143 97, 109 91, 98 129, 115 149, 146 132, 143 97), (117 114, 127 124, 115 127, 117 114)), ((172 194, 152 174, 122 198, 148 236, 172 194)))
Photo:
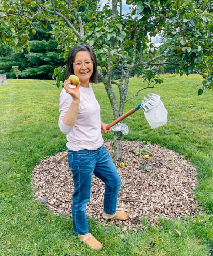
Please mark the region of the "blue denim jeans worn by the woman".
POLYGON ((68 150, 69 168, 73 173, 74 193, 72 203, 73 232, 85 235, 89 232, 86 205, 90 200, 92 174, 105 183, 103 211, 116 213, 121 178, 112 158, 103 145, 97 150, 68 150))

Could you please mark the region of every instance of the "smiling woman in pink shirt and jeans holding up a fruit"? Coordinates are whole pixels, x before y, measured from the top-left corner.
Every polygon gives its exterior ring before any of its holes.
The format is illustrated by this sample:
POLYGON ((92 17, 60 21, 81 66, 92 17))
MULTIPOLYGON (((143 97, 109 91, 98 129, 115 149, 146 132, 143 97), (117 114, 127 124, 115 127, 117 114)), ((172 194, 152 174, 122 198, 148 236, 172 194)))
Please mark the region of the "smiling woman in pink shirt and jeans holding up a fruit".
POLYGON ((90 199, 92 174, 105 183, 104 219, 127 220, 129 214, 116 211, 121 178, 112 158, 103 147, 101 133, 110 132, 101 121, 100 106, 89 82, 96 83, 97 62, 88 44, 73 47, 68 55, 66 79, 60 94, 60 130, 67 135, 68 163, 73 173, 73 231, 92 249, 103 248, 88 230, 86 205, 90 199), (71 74, 79 84, 70 87, 71 74))

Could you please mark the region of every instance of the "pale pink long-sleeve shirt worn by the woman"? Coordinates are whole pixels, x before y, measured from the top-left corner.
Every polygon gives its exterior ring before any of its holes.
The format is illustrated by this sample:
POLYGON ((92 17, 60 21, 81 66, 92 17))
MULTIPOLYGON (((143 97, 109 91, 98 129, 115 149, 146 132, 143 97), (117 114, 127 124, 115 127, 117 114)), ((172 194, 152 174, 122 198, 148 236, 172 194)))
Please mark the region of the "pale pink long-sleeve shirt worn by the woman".
POLYGON ((66 146, 69 150, 96 150, 103 145, 101 134, 100 105, 95 98, 91 85, 88 88, 79 87, 80 103, 75 126, 68 126, 62 121, 67 113, 73 98, 63 88, 60 94, 60 116, 58 125, 60 130, 66 134, 66 146))

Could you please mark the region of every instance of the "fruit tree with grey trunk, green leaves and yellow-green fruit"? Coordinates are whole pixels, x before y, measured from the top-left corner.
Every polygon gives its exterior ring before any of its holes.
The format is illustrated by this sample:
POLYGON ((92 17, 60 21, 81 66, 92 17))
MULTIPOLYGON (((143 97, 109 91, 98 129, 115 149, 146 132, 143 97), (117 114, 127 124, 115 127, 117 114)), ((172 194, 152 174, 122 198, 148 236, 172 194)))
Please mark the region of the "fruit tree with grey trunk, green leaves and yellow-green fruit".
MULTIPOLYGON (((175 65, 176 74, 203 77, 198 95, 204 90, 213 91, 213 6, 207 0, 128 0, 129 13, 122 14, 122 0, 110 0, 102 10, 91 0, 11 0, 0 1, 0 38, 4 45, 12 44, 15 52, 23 48, 30 51, 29 34, 36 27, 52 25, 52 34, 66 61, 69 50, 75 45, 88 43, 97 56, 98 72, 112 106, 114 119, 123 115, 125 103, 146 88, 163 83, 158 68, 175 65), (81 17, 82 6, 91 6, 88 21, 81 17), (171 47, 164 53, 151 42, 151 37, 167 35, 171 47), (126 47, 132 47, 132 63, 124 68, 126 47), (139 59, 136 61, 136 52, 139 59), (144 58, 146 56, 146 58, 144 58), (173 57, 172 63, 168 61, 173 57), (117 64, 121 71, 119 82, 112 80, 117 64), (146 81, 146 87, 127 99, 131 72, 143 67, 143 73, 135 73, 146 81), (118 100, 112 84, 119 89, 118 100)), ((57 86, 65 79, 65 68, 54 70, 57 86)), ((175 75, 175 74, 174 74, 175 75)), ((114 156, 121 158, 122 133, 114 132, 114 156)))

